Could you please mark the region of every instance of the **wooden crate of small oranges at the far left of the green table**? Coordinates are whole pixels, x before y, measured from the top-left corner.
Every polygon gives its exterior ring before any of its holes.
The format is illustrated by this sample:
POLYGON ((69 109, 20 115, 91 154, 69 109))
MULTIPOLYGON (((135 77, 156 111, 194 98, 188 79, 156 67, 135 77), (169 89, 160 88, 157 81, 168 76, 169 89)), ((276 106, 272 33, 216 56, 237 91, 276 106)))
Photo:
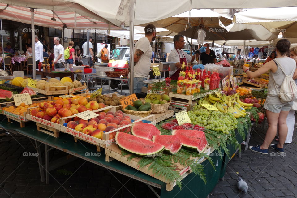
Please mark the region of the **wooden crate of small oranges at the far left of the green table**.
MULTIPOLYGON (((33 103, 34 102, 45 102, 45 101, 51 101, 51 97, 47 96, 47 97, 31 98, 31 100, 33 103)), ((2 107, 12 106, 12 105, 14 105, 14 101, 0 103, 0 108, 1 108, 0 114, 6 115, 8 122, 11 122, 11 120, 14 120, 14 121, 20 123, 20 127, 25 127, 25 123, 30 121, 26 118, 27 112, 24 112, 24 114, 22 114, 22 115, 17 115, 17 114, 13 114, 11 112, 2 110, 2 107)))

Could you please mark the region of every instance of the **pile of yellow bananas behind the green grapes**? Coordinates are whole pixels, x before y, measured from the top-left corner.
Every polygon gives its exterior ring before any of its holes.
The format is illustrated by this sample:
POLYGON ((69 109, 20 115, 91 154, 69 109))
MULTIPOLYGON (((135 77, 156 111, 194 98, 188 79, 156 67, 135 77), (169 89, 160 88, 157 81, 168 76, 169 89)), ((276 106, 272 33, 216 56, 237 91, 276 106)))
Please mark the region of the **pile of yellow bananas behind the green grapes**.
POLYGON ((210 104, 216 107, 222 113, 232 113, 235 118, 240 118, 247 115, 247 108, 251 108, 253 104, 248 104, 240 101, 239 93, 226 96, 222 94, 220 97, 217 94, 209 94, 206 97, 200 99, 198 104, 210 104))

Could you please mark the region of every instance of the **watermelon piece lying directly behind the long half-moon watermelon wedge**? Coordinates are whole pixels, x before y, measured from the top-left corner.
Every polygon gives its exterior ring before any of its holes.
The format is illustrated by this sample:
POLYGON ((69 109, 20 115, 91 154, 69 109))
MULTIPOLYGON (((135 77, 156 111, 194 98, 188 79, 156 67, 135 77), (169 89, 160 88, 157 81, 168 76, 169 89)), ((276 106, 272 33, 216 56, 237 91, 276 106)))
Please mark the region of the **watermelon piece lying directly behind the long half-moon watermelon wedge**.
POLYGON ((141 137, 147 140, 151 140, 153 136, 161 135, 161 132, 157 127, 147 123, 133 123, 131 132, 134 136, 141 137))

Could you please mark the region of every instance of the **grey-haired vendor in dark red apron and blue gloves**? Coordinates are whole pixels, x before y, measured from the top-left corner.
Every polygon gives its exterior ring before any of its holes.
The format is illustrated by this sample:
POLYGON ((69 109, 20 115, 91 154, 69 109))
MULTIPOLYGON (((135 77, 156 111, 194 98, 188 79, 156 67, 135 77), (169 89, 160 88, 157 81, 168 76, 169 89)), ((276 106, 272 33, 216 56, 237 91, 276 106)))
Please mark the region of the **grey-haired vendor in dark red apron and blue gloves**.
MULTIPOLYGON (((179 72, 181 71, 183 62, 187 66, 188 63, 192 62, 195 58, 198 57, 198 54, 190 56, 185 51, 183 51, 183 47, 185 45, 185 39, 183 35, 177 34, 173 37, 174 42, 174 49, 171 51, 171 53, 168 56, 168 61, 170 62, 176 62, 175 69, 171 70, 169 72, 171 80, 178 80, 179 72), (196 56, 196 57, 195 57, 196 56)), ((195 65, 193 66, 193 69, 204 69, 203 65, 195 65), (202 68, 203 67, 203 68, 202 68)))

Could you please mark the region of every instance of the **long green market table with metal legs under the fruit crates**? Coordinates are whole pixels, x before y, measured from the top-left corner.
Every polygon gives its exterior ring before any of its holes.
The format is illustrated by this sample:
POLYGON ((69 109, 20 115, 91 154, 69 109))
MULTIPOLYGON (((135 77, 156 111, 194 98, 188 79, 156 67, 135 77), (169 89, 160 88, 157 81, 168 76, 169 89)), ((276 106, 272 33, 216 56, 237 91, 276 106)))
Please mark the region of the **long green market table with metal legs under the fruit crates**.
MULTIPOLYGON (((4 118, 3 116, 1 116, 4 118)), ((195 176, 193 173, 187 175, 182 182, 183 187, 182 190, 179 189, 179 187, 175 186, 172 191, 166 191, 166 183, 155 179, 147 174, 144 174, 130 166, 127 166, 119 161, 113 160, 110 162, 105 161, 105 155, 103 152, 96 152, 96 149, 93 145, 87 144, 85 142, 74 142, 74 138, 68 134, 60 133, 60 136, 58 138, 55 138, 53 136, 50 136, 48 134, 42 133, 40 131, 37 131, 35 127, 35 123, 31 122, 28 123, 26 127, 23 128, 16 128, 15 123, 9 123, 9 122, 2 122, 0 124, 1 128, 5 128, 7 131, 15 131, 16 133, 19 133, 23 136, 26 136, 32 140, 35 140, 35 145, 37 147, 37 153, 40 153, 40 148, 38 147, 39 143, 45 144, 46 148, 52 147, 55 149, 59 149, 65 153, 69 153, 75 157, 79 157, 81 159, 84 159, 86 161, 92 162, 94 164, 97 164, 99 166, 105 167, 109 170, 113 170, 115 172, 118 172, 120 174, 126 175, 130 178, 136 179, 138 181, 144 182, 149 187, 151 186, 157 187, 161 189, 161 197, 174 197, 178 195, 178 197, 201 197, 205 198, 215 187, 215 185, 218 182, 218 179, 220 178, 221 168, 222 168, 222 154, 217 153, 217 150, 213 152, 213 154, 210 156, 213 160, 215 170, 213 170, 213 167, 209 163, 209 161, 202 162, 202 165, 204 166, 204 173, 206 175, 206 185, 204 182, 200 179, 199 176, 195 176), (93 152, 93 153, 100 153, 100 156, 87 156, 86 152, 93 152)), ((44 170, 50 171, 50 163, 49 163, 49 154, 48 151, 50 149, 46 149, 45 153, 45 166, 41 166, 42 158, 41 153, 39 157, 37 157, 37 160, 39 162, 39 168, 40 168, 40 174, 41 174, 41 180, 44 181, 44 170), (44 168, 45 167, 45 168, 44 168)), ((54 165, 53 165, 54 166, 54 165)), ((56 167, 56 166, 55 166, 56 167)), ((46 171, 47 174, 49 174, 46 171)), ((153 188, 151 190, 154 191, 153 188)), ((155 191, 154 191, 155 192, 155 191)), ((155 192, 156 193, 156 192, 155 192)))

